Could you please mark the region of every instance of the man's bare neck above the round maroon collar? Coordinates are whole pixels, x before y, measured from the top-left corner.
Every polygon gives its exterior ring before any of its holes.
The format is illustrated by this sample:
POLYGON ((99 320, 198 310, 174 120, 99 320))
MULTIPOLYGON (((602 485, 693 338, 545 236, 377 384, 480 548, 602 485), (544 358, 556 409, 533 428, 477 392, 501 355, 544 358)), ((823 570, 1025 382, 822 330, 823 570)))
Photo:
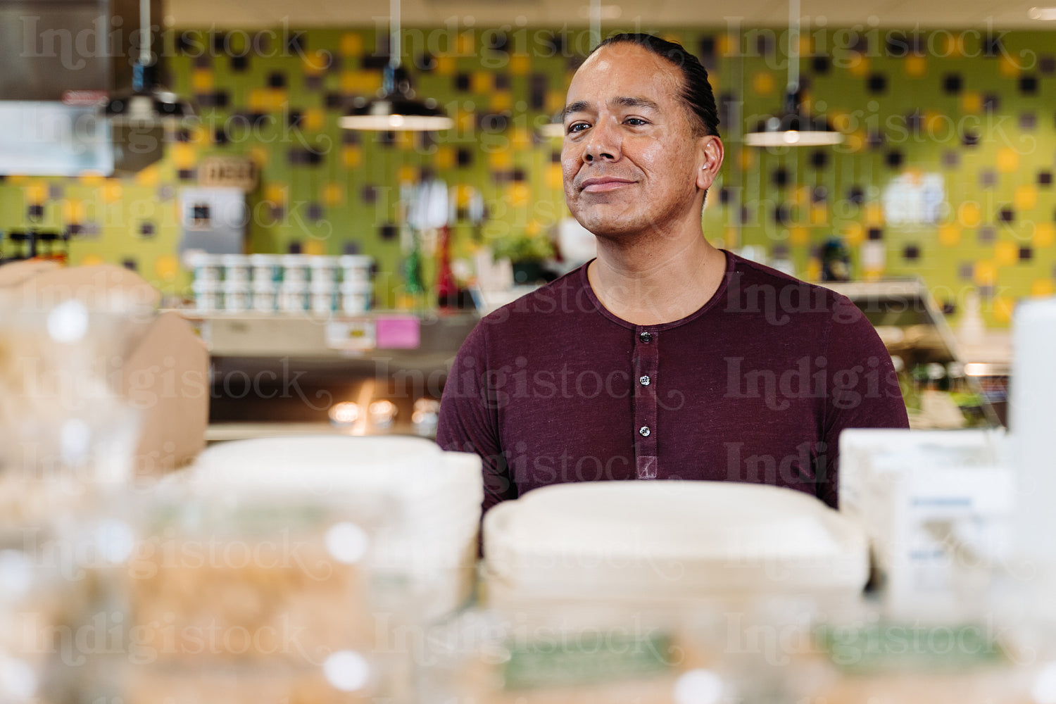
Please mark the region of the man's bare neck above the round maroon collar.
POLYGON ((718 290, 725 255, 699 233, 684 241, 622 244, 598 239, 587 280, 598 300, 621 320, 659 325, 699 310, 718 290))

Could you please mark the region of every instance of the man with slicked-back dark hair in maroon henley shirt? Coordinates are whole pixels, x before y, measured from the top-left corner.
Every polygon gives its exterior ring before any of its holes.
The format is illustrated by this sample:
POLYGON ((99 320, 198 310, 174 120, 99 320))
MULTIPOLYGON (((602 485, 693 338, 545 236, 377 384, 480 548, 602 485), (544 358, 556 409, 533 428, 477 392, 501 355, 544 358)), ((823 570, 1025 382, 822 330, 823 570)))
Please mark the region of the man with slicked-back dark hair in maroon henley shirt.
POLYGON ((846 298, 716 249, 722 164, 699 61, 602 42, 564 110, 565 197, 598 258, 487 316, 437 441, 484 460, 485 510, 565 481, 766 482, 837 501, 845 427, 906 427, 890 357, 846 298))

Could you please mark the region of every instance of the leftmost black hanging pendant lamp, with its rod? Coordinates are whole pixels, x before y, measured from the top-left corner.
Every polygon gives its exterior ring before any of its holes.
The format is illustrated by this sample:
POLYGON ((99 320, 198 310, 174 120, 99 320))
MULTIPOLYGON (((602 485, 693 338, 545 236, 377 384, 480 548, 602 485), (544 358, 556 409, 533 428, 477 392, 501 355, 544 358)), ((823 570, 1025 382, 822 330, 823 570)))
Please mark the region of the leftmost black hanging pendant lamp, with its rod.
POLYGON ((139 0, 139 57, 132 65, 132 90, 111 96, 102 114, 115 125, 150 127, 191 117, 194 109, 149 75, 153 65, 150 0, 139 0))

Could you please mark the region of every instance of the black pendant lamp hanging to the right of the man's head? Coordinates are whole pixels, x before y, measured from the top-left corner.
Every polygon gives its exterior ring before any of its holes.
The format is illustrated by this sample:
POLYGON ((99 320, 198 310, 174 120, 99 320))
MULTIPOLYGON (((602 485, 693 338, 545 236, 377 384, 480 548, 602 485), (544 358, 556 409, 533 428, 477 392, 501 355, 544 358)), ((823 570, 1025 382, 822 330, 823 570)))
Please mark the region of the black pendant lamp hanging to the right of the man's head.
POLYGON ((824 147, 843 142, 824 116, 810 116, 799 95, 799 0, 789 0, 789 82, 784 111, 765 117, 744 135, 749 147, 824 147))

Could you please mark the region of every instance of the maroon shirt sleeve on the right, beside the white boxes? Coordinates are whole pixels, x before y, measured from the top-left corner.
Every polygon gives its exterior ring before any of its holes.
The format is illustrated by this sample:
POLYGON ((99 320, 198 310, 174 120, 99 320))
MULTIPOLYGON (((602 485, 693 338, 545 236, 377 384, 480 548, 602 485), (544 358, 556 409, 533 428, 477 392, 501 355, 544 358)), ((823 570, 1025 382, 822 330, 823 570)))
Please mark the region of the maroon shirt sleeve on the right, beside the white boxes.
POLYGON ((840 434, 849 427, 909 427, 891 356, 865 315, 838 297, 825 346, 829 393, 818 448, 817 496, 840 503, 840 434))

